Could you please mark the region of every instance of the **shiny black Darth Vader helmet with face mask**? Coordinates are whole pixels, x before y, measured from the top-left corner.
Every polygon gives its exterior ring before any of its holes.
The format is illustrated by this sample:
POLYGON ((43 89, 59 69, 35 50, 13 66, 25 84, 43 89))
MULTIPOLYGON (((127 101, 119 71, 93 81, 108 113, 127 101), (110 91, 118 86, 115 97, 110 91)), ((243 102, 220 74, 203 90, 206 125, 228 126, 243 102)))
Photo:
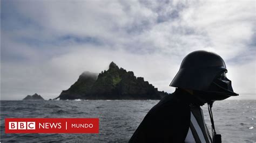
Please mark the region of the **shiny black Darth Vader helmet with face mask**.
POLYGON ((194 51, 183 59, 170 86, 193 90, 212 101, 238 96, 233 92, 226 72, 225 62, 219 55, 194 51))

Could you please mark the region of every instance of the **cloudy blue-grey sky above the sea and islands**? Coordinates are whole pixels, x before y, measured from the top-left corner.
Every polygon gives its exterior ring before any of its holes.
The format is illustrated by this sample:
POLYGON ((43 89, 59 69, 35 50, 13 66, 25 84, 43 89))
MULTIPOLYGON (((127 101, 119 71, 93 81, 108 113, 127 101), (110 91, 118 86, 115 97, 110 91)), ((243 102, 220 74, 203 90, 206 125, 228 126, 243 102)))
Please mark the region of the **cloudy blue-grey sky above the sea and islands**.
POLYGON ((238 97, 256 99, 256 1, 1 1, 1 99, 57 97, 111 61, 160 91, 183 58, 226 62, 238 97))

